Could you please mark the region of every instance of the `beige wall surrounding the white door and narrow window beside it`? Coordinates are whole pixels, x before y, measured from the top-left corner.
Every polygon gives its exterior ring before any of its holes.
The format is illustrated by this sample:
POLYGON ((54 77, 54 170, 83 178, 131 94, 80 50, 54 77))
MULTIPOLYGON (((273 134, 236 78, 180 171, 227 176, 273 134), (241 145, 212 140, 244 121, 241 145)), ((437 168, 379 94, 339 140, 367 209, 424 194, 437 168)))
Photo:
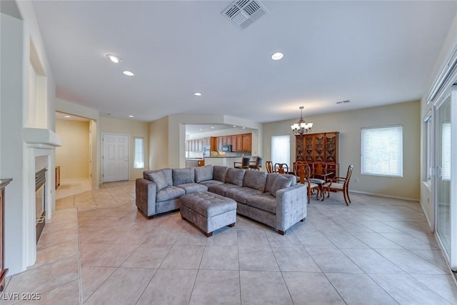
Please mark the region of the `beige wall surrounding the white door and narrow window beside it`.
MULTIPOLYGON (((127 119, 111 119, 104 116, 100 116, 99 124, 99 151, 103 151, 101 139, 101 134, 127 134, 130 137, 130 180, 135 180, 136 178, 141 178, 143 176, 143 171, 149 169, 149 123, 143 121, 134 121, 127 119), (134 169, 134 137, 143 137, 144 138, 144 169, 134 169)), ((101 153, 99 156, 101 160, 101 153)), ((101 171, 101 162, 100 162, 100 172, 101 171)))

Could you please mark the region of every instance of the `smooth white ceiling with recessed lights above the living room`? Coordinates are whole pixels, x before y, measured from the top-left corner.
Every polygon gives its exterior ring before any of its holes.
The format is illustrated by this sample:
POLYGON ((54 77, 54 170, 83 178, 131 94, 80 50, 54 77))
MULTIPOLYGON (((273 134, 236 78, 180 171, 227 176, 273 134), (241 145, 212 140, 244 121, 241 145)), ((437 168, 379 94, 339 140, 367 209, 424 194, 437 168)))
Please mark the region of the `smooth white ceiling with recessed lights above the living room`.
POLYGON ((244 31, 221 15, 231 1, 34 7, 56 96, 141 121, 182 113, 268 122, 298 119, 302 105, 306 117, 420 99, 457 11, 457 1, 262 3, 269 14, 244 31), (270 59, 276 51, 281 61, 270 59))

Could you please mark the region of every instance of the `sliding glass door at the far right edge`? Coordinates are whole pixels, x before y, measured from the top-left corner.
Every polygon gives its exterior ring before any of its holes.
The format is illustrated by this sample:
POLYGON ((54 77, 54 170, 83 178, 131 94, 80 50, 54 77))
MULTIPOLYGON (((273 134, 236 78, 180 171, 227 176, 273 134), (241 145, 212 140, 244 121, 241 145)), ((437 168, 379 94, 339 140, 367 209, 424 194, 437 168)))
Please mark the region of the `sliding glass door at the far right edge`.
POLYGON ((455 158, 451 160, 451 156, 457 153, 457 134, 453 131, 456 128, 451 121, 456 124, 456 116, 453 114, 457 110, 456 104, 457 87, 453 86, 451 94, 435 106, 436 234, 453 270, 457 270, 457 190, 456 161, 455 158))

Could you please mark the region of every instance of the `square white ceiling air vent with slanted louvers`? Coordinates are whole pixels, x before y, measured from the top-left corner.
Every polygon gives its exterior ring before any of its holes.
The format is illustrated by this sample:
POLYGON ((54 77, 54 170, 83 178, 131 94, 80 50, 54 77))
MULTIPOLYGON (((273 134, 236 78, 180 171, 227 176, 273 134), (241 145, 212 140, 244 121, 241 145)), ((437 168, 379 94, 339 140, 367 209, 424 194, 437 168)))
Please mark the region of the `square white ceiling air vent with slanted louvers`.
POLYGON ((221 13, 239 29, 253 24, 261 16, 268 14, 265 6, 257 0, 238 0, 234 1, 221 13))

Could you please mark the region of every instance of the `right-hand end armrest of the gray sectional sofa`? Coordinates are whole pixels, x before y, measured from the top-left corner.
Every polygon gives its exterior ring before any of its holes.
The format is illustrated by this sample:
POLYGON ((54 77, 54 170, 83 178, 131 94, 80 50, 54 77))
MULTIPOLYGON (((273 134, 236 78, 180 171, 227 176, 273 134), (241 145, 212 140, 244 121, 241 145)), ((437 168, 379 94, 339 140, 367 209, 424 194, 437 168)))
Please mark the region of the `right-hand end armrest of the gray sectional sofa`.
POLYGON ((308 196, 306 185, 296 184, 276 192, 276 229, 286 231, 306 218, 308 196))

